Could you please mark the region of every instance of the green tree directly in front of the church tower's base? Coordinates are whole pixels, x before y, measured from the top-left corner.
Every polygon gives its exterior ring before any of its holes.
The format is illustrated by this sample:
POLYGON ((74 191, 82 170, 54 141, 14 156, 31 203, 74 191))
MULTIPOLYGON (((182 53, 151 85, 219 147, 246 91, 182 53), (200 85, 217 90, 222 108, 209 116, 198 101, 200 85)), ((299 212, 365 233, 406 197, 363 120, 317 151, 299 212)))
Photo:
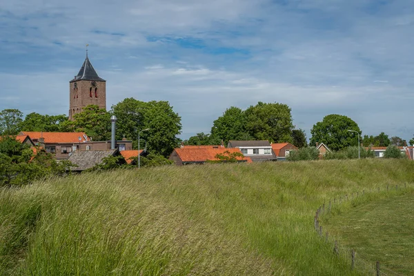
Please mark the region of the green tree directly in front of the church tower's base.
POLYGON ((96 105, 83 108, 73 116, 73 121, 63 121, 61 129, 66 131, 86 132, 94 141, 110 139, 110 113, 96 105))

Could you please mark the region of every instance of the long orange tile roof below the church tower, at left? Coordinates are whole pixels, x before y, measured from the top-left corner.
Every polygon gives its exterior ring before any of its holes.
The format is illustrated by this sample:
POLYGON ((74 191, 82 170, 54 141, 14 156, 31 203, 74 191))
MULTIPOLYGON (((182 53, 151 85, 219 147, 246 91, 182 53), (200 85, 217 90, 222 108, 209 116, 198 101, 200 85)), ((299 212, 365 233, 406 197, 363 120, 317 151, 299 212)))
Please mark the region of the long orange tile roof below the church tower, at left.
POLYGON ((90 141, 90 138, 86 136, 85 132, 33 132, 33 131, 22 131, 17 135, 23 136, 28 135, 32 140, 39 141, 39 138, 43 137, 45 143, 56 144, 56 143, 79 143, 79 137, 81 142, 90 141), (86 139, 83 137, 86 136, 86 139))

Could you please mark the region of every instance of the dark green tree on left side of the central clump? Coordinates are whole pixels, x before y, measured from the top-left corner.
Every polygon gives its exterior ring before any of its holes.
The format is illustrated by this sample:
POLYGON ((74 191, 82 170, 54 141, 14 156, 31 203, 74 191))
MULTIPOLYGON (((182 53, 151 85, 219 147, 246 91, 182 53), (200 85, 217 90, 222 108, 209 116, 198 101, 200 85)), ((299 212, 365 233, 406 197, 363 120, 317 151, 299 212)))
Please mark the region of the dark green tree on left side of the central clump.
POLYGON ((211 137, 223 140, 227 144, 229 140, 250 140, 253 139, 246 132, 246 120, 242 109, 232 106, 222 116, 213 122, 211 137))

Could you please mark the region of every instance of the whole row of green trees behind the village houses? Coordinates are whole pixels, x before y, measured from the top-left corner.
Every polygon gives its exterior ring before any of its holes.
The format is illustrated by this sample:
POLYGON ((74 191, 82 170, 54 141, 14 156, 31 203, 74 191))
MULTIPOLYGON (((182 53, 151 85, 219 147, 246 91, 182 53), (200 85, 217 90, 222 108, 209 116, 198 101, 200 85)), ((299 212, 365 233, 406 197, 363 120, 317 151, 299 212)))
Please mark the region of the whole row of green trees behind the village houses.
MULTIPOLYGON (((98 106, 87 106, 69 121, 66 115, 41 115, 32 112, 23 119, 23 113, 16 109, 0 112, 0 134, 16 135, 26 131, 86 132, 95 141, 110 139, 110 117, 117 116, 117 139, 130 139, 137 148, 140 130, 141 139, 146 141, 147 149, 155 155, 168 157, 179 146, 181 139, 181 117, 174 112, 168 101, 138 101, 127 98, 112 106, 109 111, 98 106)), ((311 129, 309 146, 324 143, 331 150, 339 151, 349 146, 404 146, 406 141, 400 137, 388 137, 384 132, 379 135, 364 135, 357 123, 344 115, 327 115, 311 129), (351 132, 348 130, 352 130, 351 132)), ((184 140, 188 145, 217 145, 229 140, 268 140, 270 142, 290 142, 297 148, 308 146, 306 134, 295 129, 291 109, 284 103, 263 103, 245 110, 232 106, 213 121, 210 133, 197 135, 184 140)), ((414 144, 414 138, 409 141, 414 144)), ((141 147, 142 148, 142 147, 141 147)))

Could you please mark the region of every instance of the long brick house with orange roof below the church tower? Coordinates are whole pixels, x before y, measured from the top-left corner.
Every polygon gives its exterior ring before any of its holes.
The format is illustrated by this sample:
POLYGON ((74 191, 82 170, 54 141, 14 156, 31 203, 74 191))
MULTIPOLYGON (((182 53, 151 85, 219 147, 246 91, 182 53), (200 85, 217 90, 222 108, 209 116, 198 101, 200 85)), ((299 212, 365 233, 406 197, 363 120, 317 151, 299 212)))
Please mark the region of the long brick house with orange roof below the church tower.
MULTIPOLYGON (((55 154, 56 159, 68 159, 75 150, 110 150, 110 141, 92 141, 85 132, 33 132, 22 131, 19 139, 30 137, 36 146, 55 154)), ((115 141, 119 150, 132 150, 132 141, 115 141)))

